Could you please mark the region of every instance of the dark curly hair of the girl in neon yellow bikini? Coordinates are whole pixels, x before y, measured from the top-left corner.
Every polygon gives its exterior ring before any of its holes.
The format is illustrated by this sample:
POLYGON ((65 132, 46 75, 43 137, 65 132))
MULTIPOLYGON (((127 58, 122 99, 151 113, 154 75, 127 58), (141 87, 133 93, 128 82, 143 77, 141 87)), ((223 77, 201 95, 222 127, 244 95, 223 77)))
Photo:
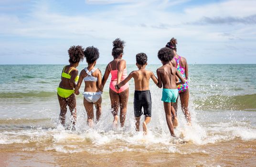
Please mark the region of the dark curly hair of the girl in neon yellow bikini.
POLYGON ((69 62, 70 63, 79 63, 80 61, 84 60, 84 48, 80 45, 73 45, 69 48, 68 55, 69 55, 69 62))

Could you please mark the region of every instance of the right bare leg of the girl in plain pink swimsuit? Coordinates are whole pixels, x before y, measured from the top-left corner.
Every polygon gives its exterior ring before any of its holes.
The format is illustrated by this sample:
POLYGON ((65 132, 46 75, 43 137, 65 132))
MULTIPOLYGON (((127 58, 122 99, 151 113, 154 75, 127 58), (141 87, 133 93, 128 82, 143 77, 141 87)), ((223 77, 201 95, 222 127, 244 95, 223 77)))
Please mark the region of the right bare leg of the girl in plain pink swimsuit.
POLYGON ((124 127, 124 125, 125 125, 128 97, 129 97, 129 88, 126 89, 125 91, 119 93, 121 127, 124 127))

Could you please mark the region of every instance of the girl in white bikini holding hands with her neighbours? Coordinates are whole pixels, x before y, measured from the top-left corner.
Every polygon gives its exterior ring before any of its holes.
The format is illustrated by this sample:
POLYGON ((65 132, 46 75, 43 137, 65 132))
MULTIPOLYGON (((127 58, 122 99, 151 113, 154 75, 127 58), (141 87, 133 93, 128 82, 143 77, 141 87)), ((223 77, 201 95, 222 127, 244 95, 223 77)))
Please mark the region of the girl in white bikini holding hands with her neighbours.
POLYGON ((88 66, 80 73, 78 83, 75 86, 75 93, 78 93, 78 90, 84 80, 85 92, 83 94, 84 106, 87 113, 87 125, 92 127, 94 119, 93 105, 96 107, 96 121, 98 121, 101 116, 101 72, 98 68, 95 68, 96 61, 99 58, 99 51, 97 48, 91 46, 85 49, 84 54, 88 66))

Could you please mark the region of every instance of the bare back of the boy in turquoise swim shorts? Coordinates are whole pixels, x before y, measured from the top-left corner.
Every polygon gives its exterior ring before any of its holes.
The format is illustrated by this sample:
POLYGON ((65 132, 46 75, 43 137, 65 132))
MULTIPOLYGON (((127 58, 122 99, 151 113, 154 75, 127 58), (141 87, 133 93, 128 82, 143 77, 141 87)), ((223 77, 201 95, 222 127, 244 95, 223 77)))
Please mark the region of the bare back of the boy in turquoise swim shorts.
POLYGON ((163 84, 164 89, 177 89, 176 87, 176 68, 171 64, 165 64, 157 69, 158 80, 163 84))

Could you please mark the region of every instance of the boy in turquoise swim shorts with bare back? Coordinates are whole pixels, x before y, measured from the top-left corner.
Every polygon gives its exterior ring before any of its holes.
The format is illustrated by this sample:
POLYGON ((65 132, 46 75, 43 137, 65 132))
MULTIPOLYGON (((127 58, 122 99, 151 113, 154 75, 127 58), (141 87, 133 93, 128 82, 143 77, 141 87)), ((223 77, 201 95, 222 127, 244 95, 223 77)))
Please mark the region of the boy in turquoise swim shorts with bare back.
POLYGON ((172 66, 170 61, 172 60, 173 56, 174 52, 170 48, 165 47, 160 49, 158 52, 158 58, 160 59, 163 66, 157 69, 159 87, 161 88, 163 85, 161 101, 163 101, 165 117, 171 136, 175 136, 172 120, 175 126, 178 124, 175 110, 172 106, 178 97, 177 85, 184 84, 186 82, 184 78, 181 77, 177 69, 172 66), (176 76, 181 80, 180 83, 176 83, 176 76))

